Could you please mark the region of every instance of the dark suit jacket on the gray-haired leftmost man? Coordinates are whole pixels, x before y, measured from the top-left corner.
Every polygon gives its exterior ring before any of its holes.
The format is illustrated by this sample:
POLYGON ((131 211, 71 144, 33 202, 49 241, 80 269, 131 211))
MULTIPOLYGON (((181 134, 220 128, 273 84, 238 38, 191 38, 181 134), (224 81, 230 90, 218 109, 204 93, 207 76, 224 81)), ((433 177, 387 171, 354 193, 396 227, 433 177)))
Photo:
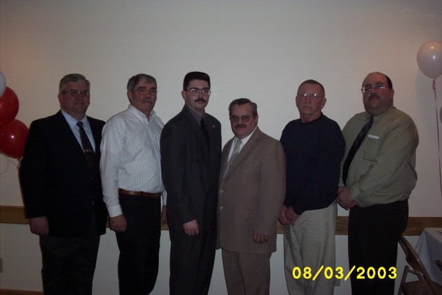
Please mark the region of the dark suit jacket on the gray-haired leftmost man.
POLYGON ((26 218, 46 216, 49 235, 86 236, 95 210, 97 231, 106 231, 106 205, 99 175, 99 144, 104 122, 88 117, 95 140, 95 166, 61 111, 30 125, 19 170, 26 218))

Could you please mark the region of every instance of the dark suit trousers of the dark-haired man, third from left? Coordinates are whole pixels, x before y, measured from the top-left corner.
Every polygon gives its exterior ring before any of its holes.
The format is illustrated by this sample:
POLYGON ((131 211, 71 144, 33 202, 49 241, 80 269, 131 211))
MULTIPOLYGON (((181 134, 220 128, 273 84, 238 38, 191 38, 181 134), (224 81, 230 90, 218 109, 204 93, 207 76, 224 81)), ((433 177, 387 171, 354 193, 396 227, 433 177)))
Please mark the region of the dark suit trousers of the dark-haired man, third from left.
POLYGON ((171 237, 171 295, 202 295, 209 292, 215 262, 216 229, 200 229, 188 236, 183 228, 169 228, 171 237))

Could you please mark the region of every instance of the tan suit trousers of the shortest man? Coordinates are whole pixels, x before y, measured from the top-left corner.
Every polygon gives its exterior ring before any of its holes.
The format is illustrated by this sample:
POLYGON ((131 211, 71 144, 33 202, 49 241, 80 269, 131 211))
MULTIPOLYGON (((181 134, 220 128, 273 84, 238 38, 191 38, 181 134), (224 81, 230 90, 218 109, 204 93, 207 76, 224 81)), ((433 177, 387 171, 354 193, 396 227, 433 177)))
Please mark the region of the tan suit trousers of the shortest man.
POLYGON ((269 295, 271 254, 222 249, 222 266, 229 295, 269 295))

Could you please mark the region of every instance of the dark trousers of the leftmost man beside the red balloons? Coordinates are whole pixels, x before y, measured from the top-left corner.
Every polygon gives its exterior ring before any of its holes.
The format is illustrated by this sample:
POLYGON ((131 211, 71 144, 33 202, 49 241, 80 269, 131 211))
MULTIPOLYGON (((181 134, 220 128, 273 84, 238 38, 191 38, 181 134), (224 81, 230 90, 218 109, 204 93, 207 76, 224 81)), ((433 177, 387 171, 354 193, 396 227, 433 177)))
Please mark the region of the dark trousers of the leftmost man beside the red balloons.
POLYGON ((98 246, 95 222, 84 238, 40 236, 44 294, 92 294, 98 246))

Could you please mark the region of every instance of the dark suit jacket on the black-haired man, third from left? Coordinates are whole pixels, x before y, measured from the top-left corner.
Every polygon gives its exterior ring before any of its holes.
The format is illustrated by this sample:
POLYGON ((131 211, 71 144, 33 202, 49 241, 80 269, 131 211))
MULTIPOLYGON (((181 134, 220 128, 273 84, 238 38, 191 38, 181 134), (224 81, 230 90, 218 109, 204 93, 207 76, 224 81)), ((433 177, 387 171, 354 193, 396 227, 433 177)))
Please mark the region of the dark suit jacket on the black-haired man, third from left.
POLYGON ((169 227, 196 219, 200 229, 216 229, 221 124, 205 115, 210 151, 200 124, 187 106, 163 128, 161 170, 167 191, 169 227))

